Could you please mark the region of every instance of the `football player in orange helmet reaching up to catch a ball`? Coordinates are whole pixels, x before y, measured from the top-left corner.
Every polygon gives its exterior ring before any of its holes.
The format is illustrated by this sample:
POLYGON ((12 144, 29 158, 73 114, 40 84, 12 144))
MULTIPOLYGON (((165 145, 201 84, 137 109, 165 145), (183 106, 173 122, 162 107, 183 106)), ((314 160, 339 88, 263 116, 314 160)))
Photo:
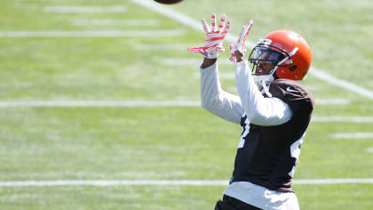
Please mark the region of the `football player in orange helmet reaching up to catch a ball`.
POLYGON ((237 43, 229 46, 239 95, 226 93, 219 82, 217 61, 230 28, 225 21, 223 15, 216 27, 212 14, 209 28, 202 20, 205 43, 188 48, 204 56, 202 107, 242 127, 233 176, 215 209, 299 209, 291 178, 314 101, 297 81, 306 77, 311 66, 311 49, 296 32, 275 30, 259 40, 244 61, 251 20, 237 43))

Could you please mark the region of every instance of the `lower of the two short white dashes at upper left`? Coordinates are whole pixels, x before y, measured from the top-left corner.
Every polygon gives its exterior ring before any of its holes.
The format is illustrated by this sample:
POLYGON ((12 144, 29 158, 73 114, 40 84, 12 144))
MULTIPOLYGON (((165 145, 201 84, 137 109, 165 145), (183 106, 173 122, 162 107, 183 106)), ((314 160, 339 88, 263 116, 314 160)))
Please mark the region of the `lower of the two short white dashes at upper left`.
POLYGON ((127 20, 86 20, 76 19, 72 20, 75 26, 158 26, 159 20, 138 20, 138 19, 127 19, 127 20))

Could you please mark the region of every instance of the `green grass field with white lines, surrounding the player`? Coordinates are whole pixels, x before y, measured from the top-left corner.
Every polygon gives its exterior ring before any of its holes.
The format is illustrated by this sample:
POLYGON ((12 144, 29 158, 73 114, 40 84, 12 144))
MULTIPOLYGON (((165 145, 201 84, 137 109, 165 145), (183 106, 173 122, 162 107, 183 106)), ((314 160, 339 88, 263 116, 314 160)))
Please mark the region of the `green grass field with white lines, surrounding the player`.
MULTIPOLYGON (((373 208, 373 4, 2 0, 0 209, 213 209, 241 129, 199 106, 199 20, 232 43, 304 36, 316 99, 293 188, 301 209, 373 208)), ((236 93, 228 52, 223 88, 236 93)))

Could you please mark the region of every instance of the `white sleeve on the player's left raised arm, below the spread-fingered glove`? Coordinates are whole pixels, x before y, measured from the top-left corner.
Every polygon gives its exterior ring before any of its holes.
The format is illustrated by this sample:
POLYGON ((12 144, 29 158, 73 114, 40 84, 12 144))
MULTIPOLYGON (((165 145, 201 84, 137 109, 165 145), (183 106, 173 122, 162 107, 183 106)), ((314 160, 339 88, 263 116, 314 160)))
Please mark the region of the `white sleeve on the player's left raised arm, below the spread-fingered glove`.
POLYGON ((229 122, 240 124, 244 112, 241 100, 238 96, 226 93, 221 88, 217 62, 206 69, 200 69, 202 108, 229 122))

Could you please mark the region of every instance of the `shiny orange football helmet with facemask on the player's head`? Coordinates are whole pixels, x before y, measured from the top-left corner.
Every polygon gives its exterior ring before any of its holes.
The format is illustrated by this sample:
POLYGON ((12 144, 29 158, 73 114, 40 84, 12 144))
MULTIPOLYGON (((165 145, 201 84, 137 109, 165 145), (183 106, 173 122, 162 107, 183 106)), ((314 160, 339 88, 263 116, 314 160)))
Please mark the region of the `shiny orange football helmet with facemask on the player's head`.
POLYGON ((306 40, 291 30, 270 32, 259 40, 249 56, 259 89, 276 78, 303 80, 311 61, 312 52, 306 40))

